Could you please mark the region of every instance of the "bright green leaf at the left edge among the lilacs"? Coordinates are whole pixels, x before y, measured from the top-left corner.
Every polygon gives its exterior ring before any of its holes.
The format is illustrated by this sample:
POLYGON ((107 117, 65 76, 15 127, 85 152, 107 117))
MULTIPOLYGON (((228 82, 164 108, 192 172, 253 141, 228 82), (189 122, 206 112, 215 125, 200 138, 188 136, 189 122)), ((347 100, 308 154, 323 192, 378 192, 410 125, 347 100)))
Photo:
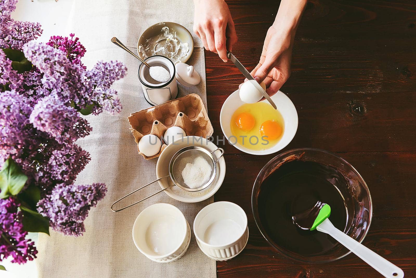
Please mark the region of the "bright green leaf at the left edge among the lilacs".
POLYGON ((0 198, 17 195, 27 181, 27 176, 10 157, 4 162, 0 171, 0 198))

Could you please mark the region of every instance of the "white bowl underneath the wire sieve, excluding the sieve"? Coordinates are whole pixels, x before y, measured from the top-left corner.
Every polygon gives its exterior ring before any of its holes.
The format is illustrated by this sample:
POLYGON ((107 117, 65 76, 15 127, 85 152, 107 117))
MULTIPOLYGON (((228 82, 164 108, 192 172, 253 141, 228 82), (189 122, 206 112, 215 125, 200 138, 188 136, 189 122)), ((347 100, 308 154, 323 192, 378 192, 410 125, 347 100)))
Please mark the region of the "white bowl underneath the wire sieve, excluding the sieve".
MULTIPOLYGON (((208 151, 213 151, 218 147, 215 146, 214 143, 208 141, 205 138, 197 137, 197 136, 186 136, 180 139, 175 140, 173 143, 166 146, 166 148, 160 154, 157 164, 156 164, 156 177, 160 178, 162 176, 169 175, 169 162, 171 161, 172 156, 182 148, 186 146, 201 146, 208 151)), ((213 153, 214 158, 217 158, 220 154, 220 151, 216 151, 213 153)), ((169 189, 166 189, 165 192, 171 198, 185 202, 185 203, 196 203, 201 202, 203 200, 208 199, 209 197, 213 196, 215 192, 218 191, 221 184, 223 184, 225 177, 225 160, 224 156, 222 156, 217 161, 217 174, 215 176, 214 181, 210 186, 206 189, 201 191, 195 192, 188 192, 180 189, 178 186, 173 186, 169 189)), ((158 181, 161 189, 166 188, 168 186, 173 185, 173 181, 170 177, 161 179, 158 181)))

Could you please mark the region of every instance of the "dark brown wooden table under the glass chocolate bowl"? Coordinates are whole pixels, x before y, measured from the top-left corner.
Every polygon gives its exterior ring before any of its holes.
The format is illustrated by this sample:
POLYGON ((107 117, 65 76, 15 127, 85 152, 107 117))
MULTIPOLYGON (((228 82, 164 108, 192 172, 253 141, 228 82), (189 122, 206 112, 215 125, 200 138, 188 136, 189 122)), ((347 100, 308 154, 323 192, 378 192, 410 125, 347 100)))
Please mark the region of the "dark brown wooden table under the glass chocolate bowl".
MULTIPOLYGON (((240 61, 253 69, 279 6, 274 0, 227 1, 240 61)), ((220 109, 243 76, 206 52, 208 114, 223 136, 220 109)), ((297 30, 292 76, 282 87, 299 114, 284 149, 314 147, 339 154, 367 182, 374 206, 364 245, 416 277, 416 1, 310 1, 297 30)), ((284 151, 282 150, 282 151, 284 151)), ((244 251, 217 263, 219 277, 381 277, 353 254, 319 265, 292 261, 260 234, 251 210, 258 172, 274 155, 225 146, 227 173, 215 201, 248 216, 244 251)))

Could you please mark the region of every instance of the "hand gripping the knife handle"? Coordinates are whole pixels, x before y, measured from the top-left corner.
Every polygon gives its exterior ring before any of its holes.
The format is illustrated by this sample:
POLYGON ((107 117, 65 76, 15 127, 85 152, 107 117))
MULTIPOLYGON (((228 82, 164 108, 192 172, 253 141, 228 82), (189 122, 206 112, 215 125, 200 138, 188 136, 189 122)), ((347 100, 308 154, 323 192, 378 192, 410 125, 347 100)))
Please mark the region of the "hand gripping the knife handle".
POLYGON ((237 42, 234 22, 223 0, 194 0, 193 31, 201 38, 206 50, 217 53, 227 62, 227 50, 237 42))

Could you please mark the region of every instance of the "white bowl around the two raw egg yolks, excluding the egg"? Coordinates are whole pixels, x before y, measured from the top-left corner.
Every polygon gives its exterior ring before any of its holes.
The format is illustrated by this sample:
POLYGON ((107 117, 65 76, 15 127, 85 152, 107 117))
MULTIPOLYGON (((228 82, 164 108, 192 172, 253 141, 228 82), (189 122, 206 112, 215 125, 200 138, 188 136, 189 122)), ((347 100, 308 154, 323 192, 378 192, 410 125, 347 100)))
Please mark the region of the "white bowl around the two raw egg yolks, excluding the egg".
MULTIPOLYGON (((277 110, 279 110, 280 114, 282 114, 283 120, 285 121, 285 127, 283 129, 282 138, 280 139, 280 141, 277 142, 277 144, 263 151, 250 150, 238 143, 233 144, 233 146, 235 146, 240 151, 244 151, 247 154, 255 155, 273 154, 287 146, 290 143, 290 141, 292 141, 293 137, 295 137, 298 124, 297 111, 295 105, 289 99, 289 97, 287 97, 287 95, 283 94, 281 91, 278 91, 270 98, 276 104, 277 110)), ((262 102, 269 103, 267 102, 267 100, 262 100, 262 102)), ((241 101, 239 90, 237 90, 230 94, 230 96, 227 99, 225 99, 223 107, 221 107, 220 124, 221 129, 223 130, 223 134, 227 139, 233 136, 230 127, 231 117, 233 117, 235 110, 237 110, 237 108, 243 104, 245 104, 245 102, 241 101)))

